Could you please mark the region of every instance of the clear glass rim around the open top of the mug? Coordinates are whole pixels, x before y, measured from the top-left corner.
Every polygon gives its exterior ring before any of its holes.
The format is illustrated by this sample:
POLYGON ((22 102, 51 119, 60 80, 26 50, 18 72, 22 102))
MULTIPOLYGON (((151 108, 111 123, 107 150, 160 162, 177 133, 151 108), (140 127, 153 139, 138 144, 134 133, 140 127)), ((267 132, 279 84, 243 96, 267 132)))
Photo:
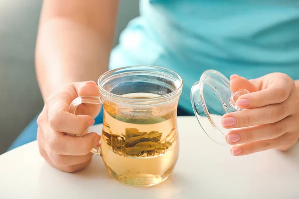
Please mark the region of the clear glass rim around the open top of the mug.
MULTIPOLYGON (((139 72, 139 71, 133 71, 134 72, 139 72)), ((143 71, 143 72, 147 72, 147 71, 143 71)), ((125 72, 124 72, 125 73, 125 72)), ((149 73, 152 73, 149 71, 149 73)), ((158 73, 158 72, 156 72, 158 73)), ((122 72, 120 73, 122 74, 122 72)), ((162 74, 162 73, 161 73, 162 74)), ((166 74, 164 74, 166 75, 166 74)), ((100 89, 100 92, 102 95, 110 97, 110 98, 115 98, 117 100, 121 100, 122 102, 127 102, 127 103, 156 103, 156 101, 161 101, 164 102, 165 100, 171 100, 176 98, 177 96, 179 96, 182 92, 182 87, 183 87, 183 79, 181 78, 180 75, 178 75, 176 72, 163 68, 163 67, 159 67, 159 66, 152 66, 152 65, 131 65, 131 66, 124 66, 124 67, 119 67, 116 69, 112 69, 112 70, 108 70, 105 73, 103 73, 99 79, 98 79, 98 87, 100 89), (148 97, 148 98, 134 98, 134 97, 128 97, 128 96, 120 96, 117 94, 113 94, 107 90, 105 90, 102 85, 101 82, 103 82, 104 80, 106 80, 109 77, 113 77, 111 76, 111 74, 115 73, 116 71, 120 71, 120 70, 124 70, 124 69, 130 69, 130 68, 137 68, 137 67, 149 67, 149 68, 153 68, 153 69, 157 69, 160 71, 165 71, 166 73, 172 74, 174 76, 177 77, 177 80, 180 82, 180 85, 177 89, 175 89, 174 91, 162 95, 162 96, 157 96, 157 97, 148 97)))

